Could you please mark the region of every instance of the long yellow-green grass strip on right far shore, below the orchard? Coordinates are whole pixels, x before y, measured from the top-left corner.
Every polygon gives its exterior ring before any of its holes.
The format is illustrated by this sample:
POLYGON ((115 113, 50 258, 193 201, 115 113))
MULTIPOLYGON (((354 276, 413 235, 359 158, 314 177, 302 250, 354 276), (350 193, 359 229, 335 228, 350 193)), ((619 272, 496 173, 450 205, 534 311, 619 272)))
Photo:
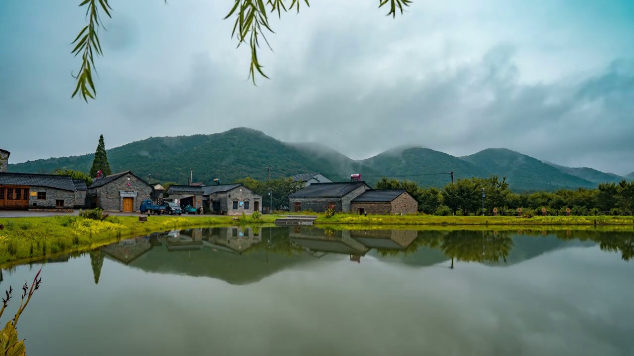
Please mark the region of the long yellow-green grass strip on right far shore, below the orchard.
POLYGON ((332 217, 320 215, 315 224, 328 225, 482 225, 482 226, 517 226, 517 225, 621 225, 634 226, 634 217, 616 216, 536 216, 536 217, 491 217, 491 216, 436 216, 436 215, 353 215, 336 214, 332 217))

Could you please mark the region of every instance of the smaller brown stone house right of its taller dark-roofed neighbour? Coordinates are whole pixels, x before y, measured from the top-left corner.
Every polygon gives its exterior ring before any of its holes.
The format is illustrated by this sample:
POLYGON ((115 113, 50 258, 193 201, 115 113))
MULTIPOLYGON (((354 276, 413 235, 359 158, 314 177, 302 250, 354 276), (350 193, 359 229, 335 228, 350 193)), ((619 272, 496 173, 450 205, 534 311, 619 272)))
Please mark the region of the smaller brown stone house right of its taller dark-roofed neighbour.
POLYGON ((393 215, 418 212, 418 201, 405 189, 372 189, 351 201, 352 211, 359 214, 393 215))

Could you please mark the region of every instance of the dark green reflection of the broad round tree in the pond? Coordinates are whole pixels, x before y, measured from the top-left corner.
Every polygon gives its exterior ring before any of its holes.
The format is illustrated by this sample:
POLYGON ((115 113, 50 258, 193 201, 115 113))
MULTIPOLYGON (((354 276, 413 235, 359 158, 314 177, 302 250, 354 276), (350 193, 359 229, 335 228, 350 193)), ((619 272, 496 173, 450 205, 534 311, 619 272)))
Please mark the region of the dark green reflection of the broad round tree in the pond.
POLYGON ((513 249, 513 239, 508 233, 483 231, 477 236, 473 231, 451 231, 444 236, 441 250, 447 257, 462 262, 507 262, 513 249))

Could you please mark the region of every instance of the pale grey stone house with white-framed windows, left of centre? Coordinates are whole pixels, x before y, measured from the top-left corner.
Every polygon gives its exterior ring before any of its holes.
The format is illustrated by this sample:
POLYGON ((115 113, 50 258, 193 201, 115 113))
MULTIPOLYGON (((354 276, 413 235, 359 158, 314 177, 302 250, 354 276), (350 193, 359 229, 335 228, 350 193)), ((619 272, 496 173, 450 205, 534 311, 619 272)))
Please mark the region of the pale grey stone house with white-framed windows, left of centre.
POLYGON ((202 187, 204 204, 214 214, 247 215, 262 212, 262 196, 242 184, 202 187))

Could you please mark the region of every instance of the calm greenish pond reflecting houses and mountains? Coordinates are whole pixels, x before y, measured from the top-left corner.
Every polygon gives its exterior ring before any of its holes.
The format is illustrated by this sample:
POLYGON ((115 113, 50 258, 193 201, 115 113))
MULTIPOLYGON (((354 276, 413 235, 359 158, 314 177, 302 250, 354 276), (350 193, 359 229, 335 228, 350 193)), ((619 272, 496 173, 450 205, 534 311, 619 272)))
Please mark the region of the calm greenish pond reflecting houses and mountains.
POLYGON ((189 229, 3 269, 36 355, 634 355, 634 232, 189 229))

